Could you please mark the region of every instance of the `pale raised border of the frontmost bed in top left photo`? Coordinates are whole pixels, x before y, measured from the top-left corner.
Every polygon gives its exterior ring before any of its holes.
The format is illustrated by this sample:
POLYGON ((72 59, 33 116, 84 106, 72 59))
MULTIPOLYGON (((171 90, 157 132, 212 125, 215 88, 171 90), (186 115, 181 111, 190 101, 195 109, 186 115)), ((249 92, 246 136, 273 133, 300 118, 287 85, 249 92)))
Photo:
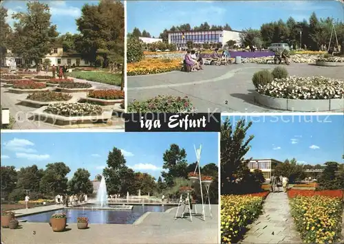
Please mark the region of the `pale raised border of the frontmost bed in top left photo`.
POLYGON ((111 119, 112 111, 103 111, 101 115, 87 115, 87 116, 63 116, 56 115, 53 113, 45 113, 44 110, 46 106, 43 106, 35 111, 32 111, 31 114, 34 117, 34 120, 43 121, 49 124, 54 124, 58 126, 67 126, 72 124, 95 124, 100 121, 104 124, 111 119))

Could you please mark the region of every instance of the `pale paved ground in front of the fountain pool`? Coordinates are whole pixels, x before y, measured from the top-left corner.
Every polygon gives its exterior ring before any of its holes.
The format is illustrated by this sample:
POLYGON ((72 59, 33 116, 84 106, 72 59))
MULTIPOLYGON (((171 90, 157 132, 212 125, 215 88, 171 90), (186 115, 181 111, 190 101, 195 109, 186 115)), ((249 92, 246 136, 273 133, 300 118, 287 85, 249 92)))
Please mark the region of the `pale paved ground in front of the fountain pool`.
POLYGON ((48 223, 20 223, 17 230, 1 229, 1 241, 5 244, 217 243, 218 206, 211 208, 213 218, 206 221, 199 217, 193 217, 193 222, 189 218, 175 220, 176 208, 171 208, 166 212, 146 213, 133 225, 90 224, 87 230, 78 230, 76 223, 68 224, 65 232, 52 232, 48 223))

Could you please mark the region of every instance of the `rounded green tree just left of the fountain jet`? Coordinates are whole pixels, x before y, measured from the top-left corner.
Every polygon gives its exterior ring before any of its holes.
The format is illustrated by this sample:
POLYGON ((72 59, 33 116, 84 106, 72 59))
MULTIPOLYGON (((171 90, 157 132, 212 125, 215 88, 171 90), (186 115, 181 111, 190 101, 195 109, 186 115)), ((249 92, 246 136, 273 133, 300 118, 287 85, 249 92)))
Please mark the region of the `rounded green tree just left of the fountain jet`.
POLYGON ((85 168, 78 168, 73 178, 68 181, 70 192, 74 194, 90 194, 93 192, 92 182, 89 180, 91 174, 85 168))

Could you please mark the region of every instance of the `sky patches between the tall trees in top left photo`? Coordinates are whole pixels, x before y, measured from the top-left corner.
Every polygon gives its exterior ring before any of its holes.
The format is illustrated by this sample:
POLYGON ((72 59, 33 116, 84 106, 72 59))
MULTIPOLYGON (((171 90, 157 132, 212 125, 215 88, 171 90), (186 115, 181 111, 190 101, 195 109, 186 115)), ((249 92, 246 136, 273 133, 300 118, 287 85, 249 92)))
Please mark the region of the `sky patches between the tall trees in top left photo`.
MULTIPOLYGON (((14 20, 12 14, 16 12, 27 12, 27 1, 1 1, 4 8, 8 10, 8 17, 6 22, 13 27, 14 20)), ((78 33, 76 26, 76 19, 81 16, 81 8, 88 3, 89 5, 98 4, 98 1, 40 1, 41 3, 47 3, 50 7, 50 13, 52 17, 50 21, 53 25, 57 25, 57 31, 61 34, 70 32, 72 34, 78 33)))

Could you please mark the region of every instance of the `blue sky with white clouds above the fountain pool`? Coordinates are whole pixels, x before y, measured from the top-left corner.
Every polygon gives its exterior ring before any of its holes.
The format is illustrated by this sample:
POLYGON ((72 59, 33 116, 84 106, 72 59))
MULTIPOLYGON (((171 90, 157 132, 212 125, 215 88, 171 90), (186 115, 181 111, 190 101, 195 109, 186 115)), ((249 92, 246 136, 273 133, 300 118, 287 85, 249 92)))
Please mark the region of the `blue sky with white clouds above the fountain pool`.
POLYGON ((161 175, 164 152, 171 144, 184 148, 189 164, 202 144, 201 166, 219 162, 218 133, 1 133, 1 166, 21 168, 64 162, 71 169, 86 168, 91 179, 103 172, 112 148, 120 148, 127 166, 156 179, 161 175))

